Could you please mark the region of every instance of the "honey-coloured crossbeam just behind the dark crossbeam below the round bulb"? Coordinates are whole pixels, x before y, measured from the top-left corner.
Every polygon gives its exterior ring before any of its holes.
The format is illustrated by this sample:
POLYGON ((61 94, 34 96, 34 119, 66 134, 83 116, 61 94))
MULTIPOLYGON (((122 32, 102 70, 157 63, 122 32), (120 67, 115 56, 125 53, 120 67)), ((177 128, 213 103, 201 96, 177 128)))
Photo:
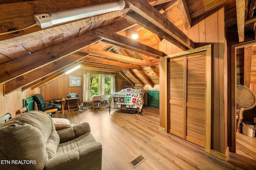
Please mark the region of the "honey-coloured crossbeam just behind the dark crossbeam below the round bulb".
POLYGON ((124 63, 131 63, 131 64, 134 63, 137 65, 144 65, 144 66, 149 66, 149 65, 154 66, 154 64, 152 64, 151 62, 148 62, 148 61, 135 59, 132 57, 127 57, 127 56, 119 55, 116 53, 110 53, 108 51, 93 49, 90 47, 86 47, 80 51, 82 51, 83 53, 88 53, 88 54, 90 54, 90 56, 100 57, 102 59, 110 59, 110 60, 120 61, 120 62, 124 62, 124 63))

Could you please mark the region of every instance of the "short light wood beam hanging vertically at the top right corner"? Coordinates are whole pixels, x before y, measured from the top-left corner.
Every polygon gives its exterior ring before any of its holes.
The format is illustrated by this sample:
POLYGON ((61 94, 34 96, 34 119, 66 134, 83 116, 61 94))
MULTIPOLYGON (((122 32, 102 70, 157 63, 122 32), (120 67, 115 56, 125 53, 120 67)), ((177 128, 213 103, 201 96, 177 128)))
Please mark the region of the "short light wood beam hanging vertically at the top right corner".
POLYGON ((236 0, 236 17, 239 43, 244 42, 245 0, 236 0))

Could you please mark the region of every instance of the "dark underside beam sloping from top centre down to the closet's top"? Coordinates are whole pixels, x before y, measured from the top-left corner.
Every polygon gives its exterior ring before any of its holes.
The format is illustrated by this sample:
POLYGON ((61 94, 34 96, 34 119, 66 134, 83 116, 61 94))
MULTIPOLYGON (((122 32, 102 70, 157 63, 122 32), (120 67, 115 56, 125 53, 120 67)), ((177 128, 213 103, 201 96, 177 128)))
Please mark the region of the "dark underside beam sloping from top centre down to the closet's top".
POLYGON ((162 30, 159 27, 157 27, 156 25, 152 24, 150 21, 148 21, 146 18, 143 18, 136 12, 130 12, 130 13, 126 14, 126 15, 124 15, 124 18, 131 20, 131 21, 137 23, 138 25, 148 29, 152 33, 155 33, 156 35, 162 37, 163 39, 166 39, 167 41, 169 41, 170 43, 173 43, 174 45, 176 45, 177 47, 179 47, 182 50, 188 49, 186 47, 186 45, 180 43, 174 37, 172 37, 170 34, 166 33, 164 30, 162 30))

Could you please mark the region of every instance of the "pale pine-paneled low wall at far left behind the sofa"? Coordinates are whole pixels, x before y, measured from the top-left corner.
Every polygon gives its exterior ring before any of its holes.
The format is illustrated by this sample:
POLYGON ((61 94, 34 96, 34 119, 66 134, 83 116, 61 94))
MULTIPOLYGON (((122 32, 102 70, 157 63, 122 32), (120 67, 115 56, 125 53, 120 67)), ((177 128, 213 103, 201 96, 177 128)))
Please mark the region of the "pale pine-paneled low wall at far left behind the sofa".
POLYGON ((34 94, 40 93, 38 88, 31 90, 30 88, 22 91, 22 89, 15 90, 4 96, 3 94, 4 85, 0 85, 0 117, 6 113, 10 113, 12 117, 16 116, 18 109, 23 107, 23 99, 33 96, 34 94))

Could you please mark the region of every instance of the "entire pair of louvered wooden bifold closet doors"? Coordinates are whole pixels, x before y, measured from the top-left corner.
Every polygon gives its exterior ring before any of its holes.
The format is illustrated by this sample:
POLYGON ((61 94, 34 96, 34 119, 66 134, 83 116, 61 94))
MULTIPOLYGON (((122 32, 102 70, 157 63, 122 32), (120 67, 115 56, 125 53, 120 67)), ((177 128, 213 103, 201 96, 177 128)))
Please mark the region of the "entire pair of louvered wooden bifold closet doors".
POLYGON ((170 59, 170 133, 205 147, 205 52, 170 59))

